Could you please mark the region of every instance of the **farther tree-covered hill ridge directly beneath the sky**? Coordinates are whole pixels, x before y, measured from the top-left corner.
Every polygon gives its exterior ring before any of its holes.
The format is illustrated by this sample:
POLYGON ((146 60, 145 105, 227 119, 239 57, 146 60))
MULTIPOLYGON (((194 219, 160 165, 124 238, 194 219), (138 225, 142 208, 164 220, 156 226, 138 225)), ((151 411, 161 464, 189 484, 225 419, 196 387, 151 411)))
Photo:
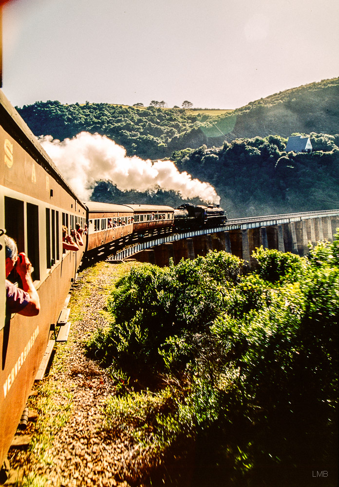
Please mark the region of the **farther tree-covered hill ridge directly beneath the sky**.
POLYGON ((209 112, 108 103, 63 105, 38 101, 18 108, 36 135, 63 140, 81 131, 107 135, 128 155, 157 159, 175 150, 221 146, 236 138, 293 132, 335 134, 339 127, 339 78, 311 83, 212 116, 209 112))

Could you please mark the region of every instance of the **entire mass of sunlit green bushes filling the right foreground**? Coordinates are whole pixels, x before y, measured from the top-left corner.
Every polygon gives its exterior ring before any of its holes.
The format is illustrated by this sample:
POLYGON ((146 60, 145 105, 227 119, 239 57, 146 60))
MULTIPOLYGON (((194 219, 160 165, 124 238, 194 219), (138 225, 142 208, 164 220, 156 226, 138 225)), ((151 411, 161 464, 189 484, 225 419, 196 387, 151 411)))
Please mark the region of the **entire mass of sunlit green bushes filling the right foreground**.
POLYGON ((310 486, 309 465, 335 470, 337 249, 261 248, 252 272, 211 252, 118 283, 114 323, 96 344, 127 376, 147 371, 153 388, 131 392, 131 382, 107 403, 107 427, 132 431, 135 478, 159 459, 175 477, 193 444, 198 485, 310 486))

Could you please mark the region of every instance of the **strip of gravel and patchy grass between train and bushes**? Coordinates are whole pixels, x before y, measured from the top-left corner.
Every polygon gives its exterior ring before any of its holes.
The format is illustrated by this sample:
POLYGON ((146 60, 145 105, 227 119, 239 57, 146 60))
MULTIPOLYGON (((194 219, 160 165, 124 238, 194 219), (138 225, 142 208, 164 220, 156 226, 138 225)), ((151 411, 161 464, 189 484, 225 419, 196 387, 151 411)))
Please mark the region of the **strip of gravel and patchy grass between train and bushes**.
POLYGON ((57 343, 49 374, 37 384, 30 410, 38 419, 25 434, 27 451, 10 450, 12 468, 23 469, 19 486, 128 486, 119 477, 128 441, 100 428, 105 399, 113 381, 85 356, 84 341, 105 322, 110 289, 134 263, 99 262, 79 274, 70 300, 72 326, 66 343, 57 343))

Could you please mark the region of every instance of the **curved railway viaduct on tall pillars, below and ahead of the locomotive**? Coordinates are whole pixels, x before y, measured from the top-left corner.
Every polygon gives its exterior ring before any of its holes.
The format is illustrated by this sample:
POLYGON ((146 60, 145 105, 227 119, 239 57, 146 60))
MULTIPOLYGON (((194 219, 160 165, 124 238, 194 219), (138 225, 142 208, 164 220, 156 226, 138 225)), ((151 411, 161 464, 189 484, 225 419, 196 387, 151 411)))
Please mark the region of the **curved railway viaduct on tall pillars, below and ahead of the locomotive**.
POLYGON ((109 260, 134 257, 165 266, 170 258, 177 263, 182 258, 205 256, 209 250, 226 250, 253 264, 252 251, 261 245, 303 256, 308 253, 309 242, 332 242, 338 227, 339 210, 237 218, 214 228, 143 235, 122 244, 109 260))

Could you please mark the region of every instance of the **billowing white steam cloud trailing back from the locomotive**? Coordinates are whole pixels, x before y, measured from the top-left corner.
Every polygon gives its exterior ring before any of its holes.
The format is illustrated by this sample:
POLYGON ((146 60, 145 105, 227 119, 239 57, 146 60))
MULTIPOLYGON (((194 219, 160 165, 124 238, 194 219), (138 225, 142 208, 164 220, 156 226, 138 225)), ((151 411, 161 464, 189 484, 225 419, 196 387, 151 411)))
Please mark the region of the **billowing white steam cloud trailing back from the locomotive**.
POLYGON ((220 197, 208 183, 179 172, 172 161, 144 161, 127 157, 126 150, 106 136, 78 133, 63 142, 51 135, 40 138, 44 150, 60 169, 71 187, 84 201, 88 200, 94 181, 112 181, 121 191, 173 190, 183 199, 199 197, 219 204, 220 197))

